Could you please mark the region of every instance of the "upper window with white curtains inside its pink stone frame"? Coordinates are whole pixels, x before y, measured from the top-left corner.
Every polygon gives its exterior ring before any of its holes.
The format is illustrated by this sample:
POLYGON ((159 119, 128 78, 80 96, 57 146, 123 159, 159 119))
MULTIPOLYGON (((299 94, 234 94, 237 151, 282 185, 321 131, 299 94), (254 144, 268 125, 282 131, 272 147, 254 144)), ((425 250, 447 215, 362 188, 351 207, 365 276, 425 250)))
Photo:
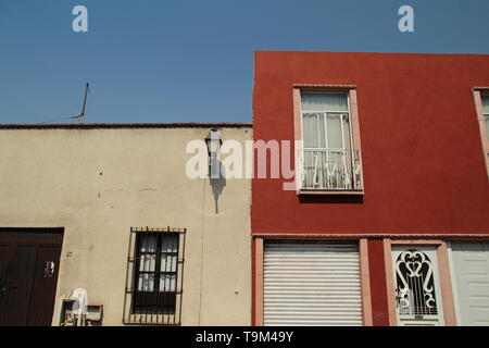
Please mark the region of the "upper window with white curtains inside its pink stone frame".
POLYGON ((302 92, 302 189, 358 188, 348 92, 302 92))

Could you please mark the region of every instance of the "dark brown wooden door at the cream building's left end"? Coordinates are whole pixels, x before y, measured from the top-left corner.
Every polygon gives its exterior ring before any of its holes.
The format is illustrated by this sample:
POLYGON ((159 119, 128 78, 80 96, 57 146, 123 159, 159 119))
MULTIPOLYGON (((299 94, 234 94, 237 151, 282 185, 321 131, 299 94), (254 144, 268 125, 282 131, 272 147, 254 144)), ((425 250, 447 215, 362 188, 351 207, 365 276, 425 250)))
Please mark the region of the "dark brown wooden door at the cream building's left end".
POLYGON ((0 325, 51 325, 63 233, 0 228, 0 325))

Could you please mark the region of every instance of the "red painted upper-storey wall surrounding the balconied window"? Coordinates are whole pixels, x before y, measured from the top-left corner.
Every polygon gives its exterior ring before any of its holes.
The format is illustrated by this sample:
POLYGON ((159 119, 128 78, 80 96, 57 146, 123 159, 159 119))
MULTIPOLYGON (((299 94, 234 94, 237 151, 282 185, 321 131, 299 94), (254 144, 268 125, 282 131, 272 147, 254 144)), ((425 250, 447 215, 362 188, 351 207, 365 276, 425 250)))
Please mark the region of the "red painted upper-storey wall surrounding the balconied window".
POLYGON ((254 178, 253 233, 489 233, 472 94, 489 86, 489 55, 256 52, 255 140, 293 140, 293 84, 358 86, 365 196, 254 178))

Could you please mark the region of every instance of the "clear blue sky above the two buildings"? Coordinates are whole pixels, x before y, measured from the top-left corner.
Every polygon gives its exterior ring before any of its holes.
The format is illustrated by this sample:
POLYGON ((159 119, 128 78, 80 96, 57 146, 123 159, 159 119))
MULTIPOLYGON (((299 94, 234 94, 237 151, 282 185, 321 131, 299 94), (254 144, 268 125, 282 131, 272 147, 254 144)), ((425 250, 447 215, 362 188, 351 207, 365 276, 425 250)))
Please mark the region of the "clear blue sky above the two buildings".
POLYGON ((0 123, 79 113, 86 82, 90 123, 251 122, 255 50, 487 54, 489 0, 0 0, 0 123))

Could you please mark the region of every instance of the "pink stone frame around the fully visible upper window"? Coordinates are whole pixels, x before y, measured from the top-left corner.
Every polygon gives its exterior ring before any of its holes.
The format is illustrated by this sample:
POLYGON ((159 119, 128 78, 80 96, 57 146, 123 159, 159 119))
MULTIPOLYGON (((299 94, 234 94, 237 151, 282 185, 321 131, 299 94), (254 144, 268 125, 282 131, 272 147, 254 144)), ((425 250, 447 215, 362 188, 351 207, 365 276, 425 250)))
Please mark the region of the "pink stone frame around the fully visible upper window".
MULTIPOLYGON (((362 147, 360 140, 359 112, 356 104, 356 86, 353 85, 293 85, 293 126, 296 145, 296 192, 297 195, 364 195, 363 164, 362 164, 362 147), (352 151, 358 151, 360 165, 361 188, 354 189, 311 189, 302 187, 303 167, 301 163, 303 147, 303 120, 301 107, 302 92, 317 94, 346 94, 348 99, 348 115, 350 122, 350 147, 352 151), (298 141, 299 140, 299 141, 298 141)), ((341 112, 344 114, 346 112, 341 112)), ((338 113, 340 114, 340 113, 338 113)), ((353 156, 352 156, 353 163, 353 156)))

